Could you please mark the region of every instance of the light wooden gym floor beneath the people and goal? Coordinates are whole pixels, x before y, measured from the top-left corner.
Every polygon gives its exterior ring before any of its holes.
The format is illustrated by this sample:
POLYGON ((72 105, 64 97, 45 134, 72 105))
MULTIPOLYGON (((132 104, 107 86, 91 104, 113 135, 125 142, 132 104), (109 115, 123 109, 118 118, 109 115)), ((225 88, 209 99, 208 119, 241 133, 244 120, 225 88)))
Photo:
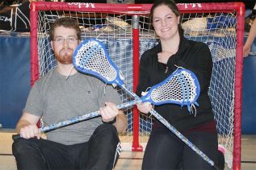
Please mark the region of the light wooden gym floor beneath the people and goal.
MULTIPOLYGON (((15 170, 15 159, 11 155, 11 135, 13 130, 0 128, 0 170, 15 170)), ((122 151, 115 170, 141 169, 143 152, 122 151)), ((229 168, 225 168, 229 169, 229 168)), ((256 135, 242 135, 241 169, 256 169, 256 135)))

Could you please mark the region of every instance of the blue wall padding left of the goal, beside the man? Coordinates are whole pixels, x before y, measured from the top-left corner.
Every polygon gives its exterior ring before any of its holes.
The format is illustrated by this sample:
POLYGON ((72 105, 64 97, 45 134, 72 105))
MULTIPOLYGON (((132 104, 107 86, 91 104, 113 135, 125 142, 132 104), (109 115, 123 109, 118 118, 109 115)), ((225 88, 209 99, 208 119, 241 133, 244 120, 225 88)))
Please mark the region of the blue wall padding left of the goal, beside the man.
POLYGON ((30 39, 1 36, 0 46, 0 123, 15 128, 30 90, 30 39))

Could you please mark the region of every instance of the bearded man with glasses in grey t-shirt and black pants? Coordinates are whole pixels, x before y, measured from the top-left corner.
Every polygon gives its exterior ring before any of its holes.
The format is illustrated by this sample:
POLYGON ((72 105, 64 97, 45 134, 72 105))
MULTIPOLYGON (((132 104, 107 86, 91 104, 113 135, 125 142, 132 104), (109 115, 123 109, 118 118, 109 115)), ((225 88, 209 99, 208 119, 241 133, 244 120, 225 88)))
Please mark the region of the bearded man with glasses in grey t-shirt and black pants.
POLYGON ((120 97, 110 85, 73 68, 73 51, 81 39, 76 20, 57 19, 50 33, 57 68, 33 85, 16 129, 23 137, 13 143, 18 169, 112 169, 118 156, 117 132, 127 119, 114 103, 120 97), (100 109, 99 109, 100 108, 100 109), (101 117, 78 122, 40 138, 36 123, 76 117, 99 110, 101 117))

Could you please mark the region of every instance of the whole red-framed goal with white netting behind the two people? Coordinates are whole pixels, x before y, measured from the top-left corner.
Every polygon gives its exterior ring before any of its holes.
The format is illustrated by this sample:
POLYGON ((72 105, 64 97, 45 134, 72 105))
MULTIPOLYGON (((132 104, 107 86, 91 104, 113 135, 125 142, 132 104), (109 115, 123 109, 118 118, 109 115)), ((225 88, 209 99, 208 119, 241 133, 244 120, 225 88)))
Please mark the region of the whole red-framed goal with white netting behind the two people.
MULTIPOLYGON (((97 38, 106 45, 120 68, 129 89, 136 89, 140 56, 157 44, 149 23, 150 4, 99 4, 66 2, 31 3, 31 85, 56 67, 49 41, 55 19, 77 19, 82 39, 97 38)), ((219 143, 225 160, 240 169, 241 160, 241 81, 244 6, 239 2, 178 4, 185 37, 208 44, 213 70, 208 90, 215 114, 219 143)), ((132 100, 119 90, 123 102, 132 100)), ((123 148, 143 151, 152 118, 136 109, 125 110, 128 130, 120 135, 123 148)))

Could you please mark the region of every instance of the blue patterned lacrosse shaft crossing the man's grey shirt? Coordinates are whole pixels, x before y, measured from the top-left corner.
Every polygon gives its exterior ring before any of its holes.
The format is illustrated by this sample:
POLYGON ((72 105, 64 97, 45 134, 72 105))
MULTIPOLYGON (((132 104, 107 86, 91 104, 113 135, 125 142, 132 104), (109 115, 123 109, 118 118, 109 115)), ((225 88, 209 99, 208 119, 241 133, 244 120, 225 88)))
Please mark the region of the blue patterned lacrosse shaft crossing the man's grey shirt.
MULTIPOLYGON (((137 103, 140 103, 140 102, 142 102, 142 101, 139 98, 139 100, 126 102, 126 103, 117 105, 116 107, 118 109, 124 109, 124 108, 128 108, 130 106, 136 105, 137 103)), ((57 128, 62 127, 62 126, 68 126, 70 124, 73 124, 73 123, 76 123, 76 122, 82 122, 82 121, 87 120, 89 118, 95 118, 95 117, 98 117, 98 116, 100 116, 99 111, 95 111, 95 112, 92 112, 90 114, 84 114, 84 115, 81 115, 81 116, 77 116, 75 118, 70 118, 69 120, 65 120, 63 122, 57 122, 57 123, 53 123, 49 126, 43 126, 43 127, 40 128, 40 132, 52 131, 52 130, 57 129, 57 128)), ((13 139, 19 139, 19 138, 22 138, 22 136, 17 134, 17 135, 13 135, 12 138, 13 139)))

